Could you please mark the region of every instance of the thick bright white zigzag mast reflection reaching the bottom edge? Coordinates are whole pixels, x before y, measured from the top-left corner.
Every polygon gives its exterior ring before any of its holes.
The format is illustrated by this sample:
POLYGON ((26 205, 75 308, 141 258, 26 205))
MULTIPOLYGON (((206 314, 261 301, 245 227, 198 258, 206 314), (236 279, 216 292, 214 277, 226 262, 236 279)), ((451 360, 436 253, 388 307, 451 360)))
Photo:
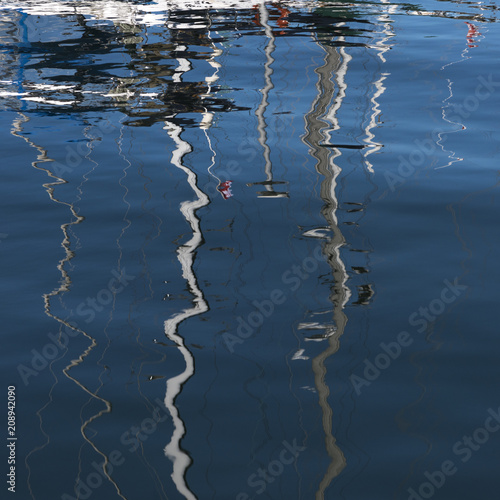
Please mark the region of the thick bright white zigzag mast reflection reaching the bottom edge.
POLYGON ((196 174, 182 164, 183 157, 192 151, 191 145, 181 139, 182 128, 171 122, 165 122, 165 128, 168 135, 175 142, 176 149, 172 153, 172 164, 183 170, 187 174, 188 184, 195 192, 197 198, 194 201, 184 201, 181 203, 180 210, 186 221, 191 226, 193 237, 185 244, 177 249, 177 258, 182 266, 182 276, 187 281, 189 290, 193 294, 193 307, 184 309, 182 312, 174 315, 164 323, 165 335, 168 339, 173 340, 184 357, 186 368, 182 373, 167 381, 167 389, 165 393, 165 406, 172 416, 174 424, 174 432, 172 439, 165 446, 165 455, 173 462, 172 480, 174 481, 177 490, 184 498, 188 500, 196 499, 186 484, 186 471, 191 464, 191 458, 180 447, 180 442, 186 432, 184 422, 179 415, 179 411, 175 406, 175 399, 181 393, 183 385, 194 374, 194 357, 186 347, 184 339, 178 334, 178 326, 187 318, 202 314, 208 311, 208 304, 203 296, 202 291, 198 286, 198 281, 193 271, 194 257, 196 249, 203 241, 203 235, 200 229, 200 220, 196 216, 196 211, 208 205, 210 202, 208 196, 199 189, 197 185, 196 174))

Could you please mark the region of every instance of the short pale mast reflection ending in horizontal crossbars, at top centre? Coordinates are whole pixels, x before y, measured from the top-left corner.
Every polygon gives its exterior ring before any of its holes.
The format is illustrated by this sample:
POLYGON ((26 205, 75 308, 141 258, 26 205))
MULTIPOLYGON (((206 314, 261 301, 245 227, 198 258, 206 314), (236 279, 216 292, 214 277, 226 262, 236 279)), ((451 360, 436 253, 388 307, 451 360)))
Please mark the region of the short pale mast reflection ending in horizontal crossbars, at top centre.
POLYGON ((271 76, 274 72, 274 70, 272 69, 272 64, 274 62, 273 52, 276 48, 276 43, 275 43, 276 37, 269 24, 269 12, 267 11, 267 7, 264 3, 259 4, 259 22, 264 27, 264 32, 266 34, 266 37, 268 38, 268 42, 264 49, 264 53, 266 56, 266 62, 264 63, 265 85, 264 88, 260 91, 262 94, 262 99, 260 101, 257 110, 255 111, 255 115, 257 116, 257 131, 259 132, 258 142, 262 146, 263 150, 264 171, 266 174, 266 180, 261 182, 251 182, 248 183, 247 186, 263 185, 266 188, 266 190, 257 192, 257 196, 259 198, 288 198, 288 193, 277 192, 273 188, 274 184, 284 184, 284 182, 273 180, 271 148, 267 143, 267 123, 264 113, 269 105, 269 93, 274 88, 271 76))

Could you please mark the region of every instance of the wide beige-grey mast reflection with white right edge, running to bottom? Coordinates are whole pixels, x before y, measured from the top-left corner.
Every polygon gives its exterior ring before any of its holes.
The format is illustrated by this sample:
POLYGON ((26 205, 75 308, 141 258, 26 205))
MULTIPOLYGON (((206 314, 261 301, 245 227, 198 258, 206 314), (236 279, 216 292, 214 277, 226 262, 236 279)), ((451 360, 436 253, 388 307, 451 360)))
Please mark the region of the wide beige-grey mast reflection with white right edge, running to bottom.
MULTIPOLYGON (((343 48, 337 51, 336 48, 330 45, 322 44, 320 40, 317 40, 316 43, 325 52, 324 64, 315 70, 315 73, 318 75, 318 82, 316 84, 318 94, 311 106, 311 110, 305 115, 306 134, 303 137, 303 141, 310 147, 310 153, 316 160, 316 170, 324 178, 320 188, 321 198, 326 202, 322 213, 333 232, 333 236, 324 247, 324 253, 327 255, 328 263, 332 268, 334 276, 334 286, 330 300, 333 304, 333 320, 335 323, 333 327, 332 325, 324 325, 325 333, 323 338, 328 339, 328 347, 312 360, 314 383, 322 411, 325 446, 330 457, 330 464, 316 492, 316 499, 323 500, 326 488, 346 466, 344 454, 336 444, 336 439, 333 435, 333 411, 328 403, 330 389, 326 382, 325 361, 339 349, 339 337, 344 333, 347 324, 344 307, 351 293, 346 285, 348 279, 347 270, 340 256, 340 248, 345 244, 345 239, 338 227, 336 216, 338 208, 336 179, 341 169, 335 164, 334 160, 341 155, 341 152, 335 147, 331 149, 325 148, 322 146, 322 143, 325 140, 325 136, 328 135, 328 132, 325 130, 327 123, 333 125, 334 130, 339 128, 336 112, 340 109, 345 96, 345 75, 348 61, 351 57, 345 53, 343 48), (338 89, 336 96, 332 74, 336 75, 335 83, 338 89)), ((307 324, 304 326, 307 326, 307 324)))

